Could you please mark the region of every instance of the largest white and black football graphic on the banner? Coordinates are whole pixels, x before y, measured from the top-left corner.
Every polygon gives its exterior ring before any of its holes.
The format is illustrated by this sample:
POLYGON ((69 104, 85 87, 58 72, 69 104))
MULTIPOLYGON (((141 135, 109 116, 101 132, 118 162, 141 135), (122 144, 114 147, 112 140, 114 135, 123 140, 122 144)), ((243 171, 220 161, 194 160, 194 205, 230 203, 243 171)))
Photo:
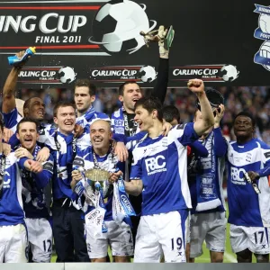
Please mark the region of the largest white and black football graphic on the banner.
POLYGON ((94 36, 89 42, 103 46, 108 53, 124 52, 132 54, 145 45, 140 31, 153 30, 157 22, 150 26, 145 4, 130 0, 112 0, 97 12, 93 22, 94 36))

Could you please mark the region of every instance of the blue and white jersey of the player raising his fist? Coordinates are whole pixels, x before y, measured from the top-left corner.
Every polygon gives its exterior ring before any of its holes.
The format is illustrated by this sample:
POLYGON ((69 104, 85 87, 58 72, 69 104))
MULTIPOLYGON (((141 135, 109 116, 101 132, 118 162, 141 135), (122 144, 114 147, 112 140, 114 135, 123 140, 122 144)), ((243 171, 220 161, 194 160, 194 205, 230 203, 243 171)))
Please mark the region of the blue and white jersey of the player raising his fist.
POLYGON ((143 182, 142 215, 191 208, 186 146, 196 139, 188 123, 175 126, 167 137, 147 137, 135 146, 130 180, 143 182))

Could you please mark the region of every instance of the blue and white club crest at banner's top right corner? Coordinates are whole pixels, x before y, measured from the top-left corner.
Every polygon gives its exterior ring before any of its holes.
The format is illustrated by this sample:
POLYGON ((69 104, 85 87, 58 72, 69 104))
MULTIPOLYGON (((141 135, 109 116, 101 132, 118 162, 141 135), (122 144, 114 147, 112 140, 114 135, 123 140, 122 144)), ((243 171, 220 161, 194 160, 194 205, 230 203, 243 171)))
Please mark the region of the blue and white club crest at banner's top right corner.
POLYGON ((258 28, 254 32, 254 37, 259 40, 266 40, 257 51, 254 62, 262 65, 266 70, 270 71, 270 7, 255 4, 258 17, 258 28))

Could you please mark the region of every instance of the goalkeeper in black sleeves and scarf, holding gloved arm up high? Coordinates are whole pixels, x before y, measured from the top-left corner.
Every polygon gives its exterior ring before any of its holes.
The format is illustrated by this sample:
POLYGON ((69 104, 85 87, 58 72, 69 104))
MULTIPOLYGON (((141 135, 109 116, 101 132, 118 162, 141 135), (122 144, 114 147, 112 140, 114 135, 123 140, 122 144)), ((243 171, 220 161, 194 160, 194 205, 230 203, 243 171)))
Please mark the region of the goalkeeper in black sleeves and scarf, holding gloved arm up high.
MULTIPOLYGON (((160 26, 158 29, 158 36, 162 39, 166 36, 166 30, 164 26, 160 26)), ((157 83, 152 92, 153 96, 157 96, 161 103, 164 103, 166 97, 166 87, 168 82, 168 69, 169 51, 164 48, 164 40, 158 42, 159 47, 159 66, 157 73, 157 83)), ((138 125, 134 121, 135 103, 142 97, 141 89, 137 82, 128 81, 120 85, 119 87, 119 100, 122 103, 122 107, 112 113, 112 131, 116 134, 122 134, 126 137, 132 137, 139 132, 138 125)), ((130 155, 126 166, 125 166, 125 178, 130 179, 130 165, 132 155, 130 155)), ((132 220, 132 235, 136 239, 136 233, 139 226, 139 216, 141 212, 141 195, 132 196, 130 195, 130 202, 136 211, 137 216, 131 217, 132 220)))

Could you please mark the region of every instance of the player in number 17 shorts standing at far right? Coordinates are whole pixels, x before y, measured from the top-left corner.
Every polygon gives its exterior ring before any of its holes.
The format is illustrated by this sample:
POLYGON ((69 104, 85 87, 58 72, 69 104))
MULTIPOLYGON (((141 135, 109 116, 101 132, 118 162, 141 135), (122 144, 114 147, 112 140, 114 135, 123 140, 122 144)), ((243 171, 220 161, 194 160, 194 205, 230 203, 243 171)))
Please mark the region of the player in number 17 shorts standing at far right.
POLYGON ((270 147, 254 138, 256 122, 239 112, 233 123, 236 141, 228 148, 230 244, 238 263, 269 262, 270 147), (268 177, 268 178, 267 178, 268 177))

